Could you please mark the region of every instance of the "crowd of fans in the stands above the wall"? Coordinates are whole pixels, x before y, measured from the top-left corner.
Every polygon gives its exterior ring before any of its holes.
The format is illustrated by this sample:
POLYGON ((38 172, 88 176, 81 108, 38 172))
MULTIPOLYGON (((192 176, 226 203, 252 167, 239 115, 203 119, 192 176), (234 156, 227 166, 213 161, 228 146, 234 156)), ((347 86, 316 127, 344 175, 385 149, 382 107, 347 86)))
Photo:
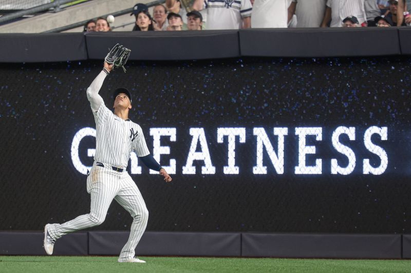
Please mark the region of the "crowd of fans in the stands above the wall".
MULTIPOLYGON (((189 10, 180 0, 165 0, 152 16, 136 4, 133 31, 411 25, 411 0, 194 0, 189 10)), ((84 26, 85 32, 110 30, 103 17, 84 26)))

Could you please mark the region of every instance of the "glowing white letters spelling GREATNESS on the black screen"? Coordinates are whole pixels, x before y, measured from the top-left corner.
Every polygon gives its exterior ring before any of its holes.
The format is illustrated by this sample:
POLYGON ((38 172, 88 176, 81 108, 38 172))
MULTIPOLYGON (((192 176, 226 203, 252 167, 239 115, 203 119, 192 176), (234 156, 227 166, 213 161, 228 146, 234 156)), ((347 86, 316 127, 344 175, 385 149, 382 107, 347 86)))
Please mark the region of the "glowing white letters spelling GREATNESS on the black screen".
MULTIPOLYGON (((267 166, 264 161, 267 161, 272 164, 274 167, 274 174, 282 175, 284 174, 284 142, 285 137, 288 135, 287 127, 274 127, 273 135, 277 139, 277 142, 274 144, 277 148, 275 151, 273 144, 271 143, 270 138, 267 135, 267 132, 264 128, 253 128, 253 137, 255 138, 255 166, 252 167, 252 174, 256 175, 266 175, 267 166), (264 160, 264 154, 267 153, 268 159, 264 160)), ((297 153, 297 166, 295 166, 293 173, 298 175, 321 175, 323 174, 323 163, 322 159, 315 159, 314 165, 307 164, 307 156, 316 154, 315 145, 307 145, 307 138, 313 136, 315 141, 323 140, 323 128, 322 127, 297 127, 295 128, 295 135, 297 136, 298 148, 294 148, 298 151, 297 153)), ((224 143, 225 138, 227 139, 226 146, 228 148, 227 158, 212 160, 210 155, 209 144, 207 142, 206 133, 204 128, 189 128, 189 134, 191 137, 191 143, 188 155, 183 161, 185 165, 182 166, 181 174, 183 175, 215 175, 216 167, 213 164, 213 161, 225 162, 227 165, 223 166, 222 173, 225 175, 239 175, 240 169, 239 166, 235 164, 236 160, 236 139, 237 143, 246 143, 246 128, 232 127, 232 128, 217 128, 217 133, 213 134, 212 132, 209 135, 217 136, 217 143, 224 143), (198 149, 199 148, 199 149, 198 149), (195 161, 200 161, 202 163, 201 168, 197 172, 195 161)), ((363 145, 367 149, 370 156, 376 157, 375 160, 378 163, 371 164, 370 159, 366 158, 362 160, 363 174, 373 174, 381 175, 383 174, 388 165, 388 156, 386 151, 381 147, 376 145, 371 141, 373 135, 377 135, 380 140, 387 140, 387 127, 377 127, 371 126, 367 128, 364 132, 363 145), (373 166, 376 165, 376 166, 373 166)), ((161 137, 168 138, 172 142, 176 142, 177 139, 177 129, 176 128, 150 128, 150 136, 153 137, 153 156, 157 162, 165 162, 161 159, 161 155, 170 155, 171 146, 161 145, 161 137)), ((84 175, 87 174, 87 171, 90 170, 91 165, 87 166, 83 163, 80 158, 80 154, 87 154, 88 157, 94 157, 96 149, 87 149, 87 152, 81 151, 80 142, 85 137, 96 137, 96 130, 94 128, 82 128, 80 129, 73 137, 71 144, 71 160, 73 166, 76 170, 84 175)), ((340 126, 332 132, 331 143, 336 152, 340 153, 340 157, 344 157, 347 163, 339 163, 337 158, 332 158, 330 161, 331 169, 329 173, 331 174, 341 174, 349 175, 353 173, 356 167, 356 154, 349 147, 344 145, 340 138, 348 138, 349 141, 356 140, 356 128, 355 127, 345 127, 340 126), (343 165, 343 166, 342 166, 343 165)), ((253 139, 254 140, 254 139, 253 139)), ((215 144, 215 143, 213 143, 215 144)), ((238 145, 238 144, 237 144, 238 145)), ((175 146, 182 146, 175 145, 175 146)), ((224 148, 223 145, 220 145, 221 149, 224 148)), ((242 157, 246 157, 242 155, 242 157)), ((237 161, 242 160, 241 156, 237 156, 237 161)), ((90 161, 90 160, 89 160, 90 161)), ((344 162, 343 159, 341 159, 344 162)), ((166 165, 162 164, 162 167, 169 174, 177 174, 177 164, 176 159, 169 159, 169 163, 166 165)), ((180 164, 181 165, 181 164, 180 164)), ((251 168, 249 168, 251 172, 251 168)), ((246 173, 247 170, 242 171, 246 173)), ((132 152, 130 155, 130 173, 131 174, 142 174, 141 166, 138 165, 138 157, 135 152, 132 152)), ((150 170, 150 174, 157 174, 158 172, 150 170)))

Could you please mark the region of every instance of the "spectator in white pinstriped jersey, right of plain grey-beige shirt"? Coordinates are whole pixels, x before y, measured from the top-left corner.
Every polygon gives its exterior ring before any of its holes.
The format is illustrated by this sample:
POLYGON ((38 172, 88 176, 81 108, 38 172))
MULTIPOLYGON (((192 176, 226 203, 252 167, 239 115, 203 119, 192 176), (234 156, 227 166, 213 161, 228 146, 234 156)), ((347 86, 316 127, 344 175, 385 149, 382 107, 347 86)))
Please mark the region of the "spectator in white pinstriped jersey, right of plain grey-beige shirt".
POLYGON ((364 1, 365 0, 327 0, 327 7, 321 27, 327 27, 330 20, 330 27, 342 27, 343 19, 349 14, 356 16, 360 25, 365 26, 366 15, 364 1))

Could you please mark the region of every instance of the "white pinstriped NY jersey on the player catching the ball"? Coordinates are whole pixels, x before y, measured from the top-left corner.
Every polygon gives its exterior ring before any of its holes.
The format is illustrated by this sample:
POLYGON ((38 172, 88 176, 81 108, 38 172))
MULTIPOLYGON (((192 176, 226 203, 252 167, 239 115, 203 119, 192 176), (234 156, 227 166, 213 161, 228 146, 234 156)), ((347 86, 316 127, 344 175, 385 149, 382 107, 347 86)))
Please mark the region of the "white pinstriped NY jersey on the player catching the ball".
POLYGON ((96 121, 95 161, 125 168, 133 150, 139 157, 150 154, 140 125, 119 118, 104 103, 92 112, 96 121))

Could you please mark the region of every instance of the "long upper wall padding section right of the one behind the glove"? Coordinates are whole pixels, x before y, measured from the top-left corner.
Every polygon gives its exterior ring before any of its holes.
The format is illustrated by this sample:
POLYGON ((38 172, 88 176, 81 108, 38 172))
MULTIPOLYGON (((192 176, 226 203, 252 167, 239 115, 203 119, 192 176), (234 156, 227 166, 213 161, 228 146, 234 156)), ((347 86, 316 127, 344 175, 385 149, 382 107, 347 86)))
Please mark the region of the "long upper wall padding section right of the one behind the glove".
MULTIPOLYGON (((404 35, 411 37, 409 34, 404 35)), ((242 56, 345 57, 401 54, 396 28, 245 29, 242 56)), ((409 45, 409 44, 408 44, 409 45)))

